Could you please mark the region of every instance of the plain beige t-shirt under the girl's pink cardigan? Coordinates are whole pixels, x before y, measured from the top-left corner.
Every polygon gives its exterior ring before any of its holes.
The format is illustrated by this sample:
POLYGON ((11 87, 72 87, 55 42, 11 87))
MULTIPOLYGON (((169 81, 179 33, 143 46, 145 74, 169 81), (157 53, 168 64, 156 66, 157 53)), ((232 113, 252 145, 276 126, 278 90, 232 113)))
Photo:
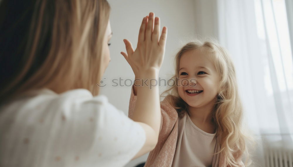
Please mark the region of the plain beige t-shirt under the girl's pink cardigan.
POLYGON ((195 126, 188 114, 179 118, 177 145, 172 167, 212 166, 217 143, 216 133, 210 134, 195 126))

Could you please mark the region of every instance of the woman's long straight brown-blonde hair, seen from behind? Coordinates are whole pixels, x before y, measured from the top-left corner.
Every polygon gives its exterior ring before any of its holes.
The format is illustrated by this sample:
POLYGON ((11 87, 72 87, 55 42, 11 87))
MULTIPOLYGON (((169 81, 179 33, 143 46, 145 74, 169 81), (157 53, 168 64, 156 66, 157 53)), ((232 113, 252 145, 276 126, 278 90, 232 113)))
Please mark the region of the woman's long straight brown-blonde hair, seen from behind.
POLYGON ((57 93, 85 88, 98 94, 109 14, 106 0, 3 0, 1 103, 44 87, 57 93))

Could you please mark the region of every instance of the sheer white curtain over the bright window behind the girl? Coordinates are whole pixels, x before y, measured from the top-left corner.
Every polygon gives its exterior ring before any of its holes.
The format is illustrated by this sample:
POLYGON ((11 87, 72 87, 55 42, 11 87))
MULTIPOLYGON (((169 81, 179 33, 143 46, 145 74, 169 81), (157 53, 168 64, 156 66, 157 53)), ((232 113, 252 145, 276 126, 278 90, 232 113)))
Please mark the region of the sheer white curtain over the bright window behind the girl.
POLYGON ((270 149, 293 150, 293 61, 285 4, 217 1, 219 41, 234 60, 245 122, 259 139, 254 166, 268 166, 270 149))

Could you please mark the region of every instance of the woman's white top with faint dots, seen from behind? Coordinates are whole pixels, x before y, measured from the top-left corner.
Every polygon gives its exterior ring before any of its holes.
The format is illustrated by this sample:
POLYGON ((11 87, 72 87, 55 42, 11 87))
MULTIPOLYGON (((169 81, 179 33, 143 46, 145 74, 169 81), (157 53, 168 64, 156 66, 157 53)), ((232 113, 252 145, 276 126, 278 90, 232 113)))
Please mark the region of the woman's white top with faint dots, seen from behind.
POLYGON ((124 166, 145 140, 138 123, 87 89, 30 91, 0 108, 0 166, 124 166))

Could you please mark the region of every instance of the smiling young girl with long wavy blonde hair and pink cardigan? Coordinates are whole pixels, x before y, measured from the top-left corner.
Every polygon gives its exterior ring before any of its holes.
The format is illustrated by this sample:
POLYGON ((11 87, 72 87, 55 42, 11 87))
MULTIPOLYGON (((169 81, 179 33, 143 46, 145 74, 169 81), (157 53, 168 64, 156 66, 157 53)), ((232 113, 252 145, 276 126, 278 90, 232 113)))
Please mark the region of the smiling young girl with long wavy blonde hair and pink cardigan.
POLYGON ((227 51, 217 42, 193 41, 180 49, 175 63, 176 84, 164 92, 159 141, 146 166, 243 166, 242 155, 248 155, 243 108, 227 51))

